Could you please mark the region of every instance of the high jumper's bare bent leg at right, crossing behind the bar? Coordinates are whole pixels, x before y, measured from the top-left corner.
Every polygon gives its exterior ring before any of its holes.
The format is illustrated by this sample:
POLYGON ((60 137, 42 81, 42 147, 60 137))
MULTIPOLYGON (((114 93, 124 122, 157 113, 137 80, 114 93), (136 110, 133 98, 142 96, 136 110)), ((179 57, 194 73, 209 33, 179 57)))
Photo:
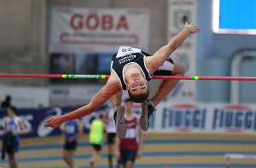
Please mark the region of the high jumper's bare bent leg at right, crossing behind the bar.
MULTIPOLYGON (((184 76, 185 74, 185 68, 183 64, 179 63, 177 60, 172 59, 174 62, 174 69, 172 71, 171 76, 184 76)), ((153 106, 156 107, 157 104, 160 103, 160 101, 166 97, 167 94, 172 92, 172 89, 177 86, 177 82, 179 80, 163 80, 160 83, 160 86, 158 87, 157 91, 154 93, 153 96, 153 106)))

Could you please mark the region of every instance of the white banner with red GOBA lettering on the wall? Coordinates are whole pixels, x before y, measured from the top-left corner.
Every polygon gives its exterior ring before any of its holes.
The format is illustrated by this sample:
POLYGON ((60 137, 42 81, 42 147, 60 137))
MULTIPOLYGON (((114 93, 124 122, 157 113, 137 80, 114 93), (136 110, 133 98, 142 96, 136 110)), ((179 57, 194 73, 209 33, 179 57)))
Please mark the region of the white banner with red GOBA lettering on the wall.
POLYGON ((54 8, 49 52, 116 52, 127 45, 148 51, 147 9, 54 8))

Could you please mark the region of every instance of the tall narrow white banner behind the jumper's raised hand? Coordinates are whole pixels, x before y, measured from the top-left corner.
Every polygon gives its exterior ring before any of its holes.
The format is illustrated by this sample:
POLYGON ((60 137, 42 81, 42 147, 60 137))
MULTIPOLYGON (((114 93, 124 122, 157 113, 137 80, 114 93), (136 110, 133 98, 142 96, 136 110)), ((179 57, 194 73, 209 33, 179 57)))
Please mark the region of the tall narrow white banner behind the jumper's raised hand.
MULTIPOLYGON (((183 30, 185 22, 196 23, 196 0, 169 0, 168 42, 183 30)), ((196 76, 196 36, 189 35, 183 45, 172 53, 172 58, 181 62, 186 69, 185 76, 196 76)), ((174 102, 195 101, 195 81, 179 81, 169 94, 174 102)))

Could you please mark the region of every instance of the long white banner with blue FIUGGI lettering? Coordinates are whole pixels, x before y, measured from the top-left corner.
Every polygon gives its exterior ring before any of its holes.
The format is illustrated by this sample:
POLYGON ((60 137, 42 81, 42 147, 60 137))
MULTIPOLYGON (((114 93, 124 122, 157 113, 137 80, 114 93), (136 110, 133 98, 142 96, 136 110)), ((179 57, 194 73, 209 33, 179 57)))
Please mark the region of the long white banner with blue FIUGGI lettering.
MULTIPOLYGON (((256 105, 159 104, 148 132, 255 134, 256 105)), ((138 114, 140 107, 135 108, 138 114)))

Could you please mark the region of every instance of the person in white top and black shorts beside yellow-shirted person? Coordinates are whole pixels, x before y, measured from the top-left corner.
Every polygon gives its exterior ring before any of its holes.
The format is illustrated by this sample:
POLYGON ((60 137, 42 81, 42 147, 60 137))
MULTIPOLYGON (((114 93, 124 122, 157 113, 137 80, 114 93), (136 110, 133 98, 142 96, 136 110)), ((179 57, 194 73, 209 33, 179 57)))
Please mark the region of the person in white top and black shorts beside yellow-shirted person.
POLYGON ((108 165, 112 168, 112 158, 113 158, 113 142, 115 139, 115 123, 113 120, 113 109, 107 107, 105 109, 105 115, 107 117, 107 143, 108 143, 108 165))

